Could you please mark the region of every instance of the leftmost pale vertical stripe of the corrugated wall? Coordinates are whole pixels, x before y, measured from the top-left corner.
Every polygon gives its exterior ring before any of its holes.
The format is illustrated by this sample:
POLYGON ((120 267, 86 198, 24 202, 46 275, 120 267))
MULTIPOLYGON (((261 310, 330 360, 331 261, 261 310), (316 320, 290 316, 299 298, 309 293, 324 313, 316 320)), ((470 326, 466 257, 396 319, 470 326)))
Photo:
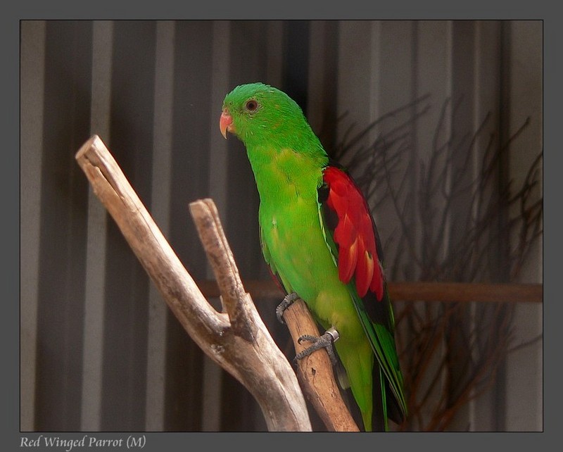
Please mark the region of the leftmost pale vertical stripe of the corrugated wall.
POLYGON ((23 22, 20 44, 20 428, 34 429, 45 23, 23 22))

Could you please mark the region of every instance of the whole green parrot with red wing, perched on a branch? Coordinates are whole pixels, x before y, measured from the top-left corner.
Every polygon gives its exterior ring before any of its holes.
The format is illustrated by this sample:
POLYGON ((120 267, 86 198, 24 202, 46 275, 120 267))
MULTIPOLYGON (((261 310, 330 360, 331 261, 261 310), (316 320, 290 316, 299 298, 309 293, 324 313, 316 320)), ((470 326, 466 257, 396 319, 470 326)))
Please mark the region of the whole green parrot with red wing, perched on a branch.
POLYGON ((302 337, 313 342, 304 353, 326 346, 330 354, 334 342, 365 430, 387 430, 388 419, 400 424, 407 407, 393 310, 365 197, 277 88, 234 88, 224 98, 220 131, 246 147, 260 195, 262 253, 288 294, 281 306, 303 299, 327 330, 302 337))

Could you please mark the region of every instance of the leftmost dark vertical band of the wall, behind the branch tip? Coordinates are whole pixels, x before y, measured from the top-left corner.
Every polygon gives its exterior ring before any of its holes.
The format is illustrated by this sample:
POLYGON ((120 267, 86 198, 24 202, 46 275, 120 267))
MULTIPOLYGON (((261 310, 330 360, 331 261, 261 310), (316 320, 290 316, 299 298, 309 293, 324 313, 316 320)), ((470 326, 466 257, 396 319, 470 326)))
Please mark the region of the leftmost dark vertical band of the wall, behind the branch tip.
POLYGON ((88 187, 72 153, 90 130, 91 49, 92 23, 46 23, 37 218, 37 429, 80 429, 80 405, 75 401, 82 395, 88 187), (42 390, 42 381, 49 382, 49 391, 42 390))

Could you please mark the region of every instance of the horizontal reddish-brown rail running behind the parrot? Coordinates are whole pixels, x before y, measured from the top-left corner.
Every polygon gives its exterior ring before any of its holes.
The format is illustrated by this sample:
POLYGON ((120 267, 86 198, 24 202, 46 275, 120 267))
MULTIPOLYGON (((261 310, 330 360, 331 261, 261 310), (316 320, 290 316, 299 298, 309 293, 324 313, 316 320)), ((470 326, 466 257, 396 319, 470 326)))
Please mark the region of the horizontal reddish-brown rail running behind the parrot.
MULTIPOLYGON (((215 281, 198 281, 203 294, 218 296, 215 281)), ((244 283, 255 299, 283 296, 271 280, 244 283)), ((485 284, 478 282, 388 282, 391 299, 396 301, 445 301, 479 303, 542 303, 543 284, 485 284)))

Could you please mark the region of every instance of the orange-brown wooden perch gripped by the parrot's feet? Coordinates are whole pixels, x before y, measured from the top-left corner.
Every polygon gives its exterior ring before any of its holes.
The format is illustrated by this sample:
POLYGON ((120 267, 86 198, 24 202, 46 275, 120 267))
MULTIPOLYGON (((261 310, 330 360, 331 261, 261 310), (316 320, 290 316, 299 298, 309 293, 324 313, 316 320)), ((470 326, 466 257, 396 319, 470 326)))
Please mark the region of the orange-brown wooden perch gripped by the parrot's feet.
MULTIPOLYGON (((303 351, 307 342, 299 344, 303 334, 319 336, 319 329, 303 300, 294 301, 284 310, 284 320, 289 328, 296 353, 303 351)), ((298 360, 299 382, 308 400, 331 432, 359 432, 358 425, 350 415, 334 379, 329 354, 325 349, 314 351, 298 360)))

